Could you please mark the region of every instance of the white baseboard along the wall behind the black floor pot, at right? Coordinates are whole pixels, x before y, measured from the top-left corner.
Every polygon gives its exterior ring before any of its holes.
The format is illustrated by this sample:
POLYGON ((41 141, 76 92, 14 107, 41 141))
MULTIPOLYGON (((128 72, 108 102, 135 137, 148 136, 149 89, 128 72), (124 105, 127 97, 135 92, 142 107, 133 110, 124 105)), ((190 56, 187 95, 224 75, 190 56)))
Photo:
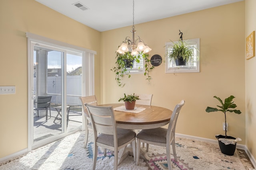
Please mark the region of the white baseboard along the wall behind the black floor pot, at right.
MULTIPOLYGON (((188 139, 194 139, 194 140, 198 140, 198 141, 204 141, 204 142, 210 142, 210 143, 216 143, 218 144, 218 140, 214 140, 214 139, 207 139, 207 138, 202 138, 202 137, 195 137, 195 136, 190 136, 190 135, 183 135, 183 134, 179 134, 179 133, 175 133, 176 137, 184 137, 184 138, 188 138, 188 139)), ((236 144, 236 148, 237 149, 242 149, 245 150, 246 154, 248 155, 250 161, 252 162, 252 165, 254 167, 256 167, 256 161, 255 158, 252 156, 252 154, 250 153, 250 151, 248 150, 248 148, 245 145, 241 145, 241 144, 236 144)))

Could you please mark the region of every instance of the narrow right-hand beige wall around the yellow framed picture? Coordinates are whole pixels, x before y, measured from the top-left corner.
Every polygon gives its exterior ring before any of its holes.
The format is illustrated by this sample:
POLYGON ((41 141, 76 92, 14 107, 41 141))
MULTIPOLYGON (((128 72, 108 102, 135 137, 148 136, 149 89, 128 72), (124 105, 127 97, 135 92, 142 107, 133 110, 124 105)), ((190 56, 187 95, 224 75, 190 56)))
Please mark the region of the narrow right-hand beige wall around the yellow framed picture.
MULTIPOLYGON (((245 0, 245 37, 256 31, 256 1, 245 0)), ((255 41, 254 41, 255 43, 255 41)), ((245 61, 246 147, 256 158, 256 57, 245 61)))

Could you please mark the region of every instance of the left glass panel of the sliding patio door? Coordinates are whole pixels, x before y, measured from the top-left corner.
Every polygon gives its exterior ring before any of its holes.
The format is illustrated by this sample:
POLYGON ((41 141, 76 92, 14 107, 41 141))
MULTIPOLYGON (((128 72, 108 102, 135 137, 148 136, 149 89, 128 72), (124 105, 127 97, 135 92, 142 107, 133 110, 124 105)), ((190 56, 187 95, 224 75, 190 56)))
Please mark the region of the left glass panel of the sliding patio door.
POLYGON ((63 59, 62 51, 34 46, 34 143, 63 133, 63 59))

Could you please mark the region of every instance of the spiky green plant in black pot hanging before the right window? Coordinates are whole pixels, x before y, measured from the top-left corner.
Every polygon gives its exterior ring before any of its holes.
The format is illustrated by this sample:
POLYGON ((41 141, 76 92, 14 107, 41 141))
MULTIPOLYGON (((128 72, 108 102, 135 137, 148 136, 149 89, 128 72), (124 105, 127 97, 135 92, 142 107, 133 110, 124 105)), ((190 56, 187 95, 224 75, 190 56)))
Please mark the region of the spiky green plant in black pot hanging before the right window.
MULTIPOLYGON (((186 41, 182 41, 180 39, 178 42, 173 42, 169 47, 171 48, 170 52, 166 55, 170 60, 174 60, 176 66, 186 65, 190 59, 194 57, 194 49, 193 46, 190 46, 186 43, 186 41)), ((196 49, 197 50, 197 49, 196 49)))

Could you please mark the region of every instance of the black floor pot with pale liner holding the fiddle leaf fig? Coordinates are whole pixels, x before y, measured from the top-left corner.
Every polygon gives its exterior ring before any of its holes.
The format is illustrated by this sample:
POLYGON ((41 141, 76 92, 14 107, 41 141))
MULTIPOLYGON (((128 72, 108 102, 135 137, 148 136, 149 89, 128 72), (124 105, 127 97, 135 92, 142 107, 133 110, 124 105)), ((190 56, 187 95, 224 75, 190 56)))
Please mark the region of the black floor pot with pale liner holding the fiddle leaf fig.
MULTIPOLYGON (((225 138, 224 135, 216 135, 215 136, 217 139, 220 139, 220 138, 225 138)), ((236 139, 232 136, 227 136, 226 139, 236 139)), ((228 145, 225 145, 222 141, 219 141, 219 146, 220 146, 220 151, 223 153, 223 154, 226 154, 226 155, 229 155, 229 156, 233 156, 234 155, 234 152, 236 150, 236 143, 235 144, 228 144, 228 145)))

